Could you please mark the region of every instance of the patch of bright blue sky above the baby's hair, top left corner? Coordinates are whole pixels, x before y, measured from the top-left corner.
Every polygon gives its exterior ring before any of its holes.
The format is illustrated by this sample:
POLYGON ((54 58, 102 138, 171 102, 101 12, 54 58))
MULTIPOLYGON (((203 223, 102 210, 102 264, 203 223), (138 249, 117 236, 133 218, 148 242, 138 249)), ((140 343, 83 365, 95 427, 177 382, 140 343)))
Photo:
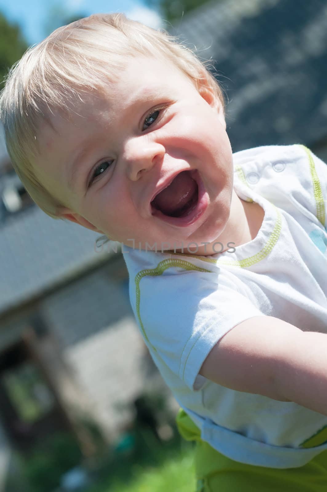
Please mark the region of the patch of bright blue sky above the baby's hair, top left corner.
POLYGON ((159 15, 145 7, 142 0, 0 0, 0 12, 17 22, 28 44, 41 41, 50 30, 59 27, 58 19, 82 13, 125 12, 128 17, 153 28, 160 27, 159 15))

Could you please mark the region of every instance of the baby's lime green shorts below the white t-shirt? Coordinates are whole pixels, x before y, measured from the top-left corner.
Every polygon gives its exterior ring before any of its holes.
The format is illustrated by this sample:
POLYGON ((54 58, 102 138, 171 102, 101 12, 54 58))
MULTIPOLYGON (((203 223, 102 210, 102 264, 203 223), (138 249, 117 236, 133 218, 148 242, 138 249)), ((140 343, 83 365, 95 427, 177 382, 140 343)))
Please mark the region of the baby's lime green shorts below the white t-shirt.
POLYGON ((254 466, 222 455, 200 438, 200 431, 180 409, 178 431, 196 441, 196 492, 327 492, 327 451, 299 468, 254 466))

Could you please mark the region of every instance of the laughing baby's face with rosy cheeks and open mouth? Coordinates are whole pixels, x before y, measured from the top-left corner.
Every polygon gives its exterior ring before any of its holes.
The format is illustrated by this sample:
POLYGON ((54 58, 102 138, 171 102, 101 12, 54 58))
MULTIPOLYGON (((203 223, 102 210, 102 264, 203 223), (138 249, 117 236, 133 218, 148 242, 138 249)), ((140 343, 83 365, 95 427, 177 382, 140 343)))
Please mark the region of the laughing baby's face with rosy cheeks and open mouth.
POLYGON ((229 218, 233 180, 221 103, 169 61, 126 65, 104 95, 75 104, 69 121, 55 114, 56 132, 43 126, 37 166, 69 203, 63 216, 127 246, 214 241, 229 218), (165 187, 160 212, 151 201, 165 187))

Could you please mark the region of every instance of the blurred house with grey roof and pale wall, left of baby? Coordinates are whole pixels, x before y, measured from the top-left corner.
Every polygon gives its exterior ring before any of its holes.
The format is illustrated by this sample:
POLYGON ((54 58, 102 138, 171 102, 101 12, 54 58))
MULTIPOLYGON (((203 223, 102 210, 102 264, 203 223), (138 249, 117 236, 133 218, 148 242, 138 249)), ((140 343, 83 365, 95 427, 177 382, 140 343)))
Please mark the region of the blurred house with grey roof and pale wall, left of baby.
POLYGON ((119 245, 101 250, 98 233, 36 207, 3 142, 0 169, 1 481, 11 448, 51 432, 74 433, 87 453, 85 418, 112 441, 150 379, 119 245))

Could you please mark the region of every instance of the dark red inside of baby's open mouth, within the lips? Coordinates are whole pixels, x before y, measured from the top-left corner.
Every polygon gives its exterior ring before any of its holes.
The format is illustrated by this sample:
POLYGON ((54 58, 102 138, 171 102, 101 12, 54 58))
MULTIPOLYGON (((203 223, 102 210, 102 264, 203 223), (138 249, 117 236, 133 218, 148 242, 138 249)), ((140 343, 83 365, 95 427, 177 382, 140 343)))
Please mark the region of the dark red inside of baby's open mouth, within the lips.
POLYGON ((196 189, 197 184, 191 178, 190 172, 183 171, 156 196, 153 203, 163 214, 173 214, 191 200, 196 189))

